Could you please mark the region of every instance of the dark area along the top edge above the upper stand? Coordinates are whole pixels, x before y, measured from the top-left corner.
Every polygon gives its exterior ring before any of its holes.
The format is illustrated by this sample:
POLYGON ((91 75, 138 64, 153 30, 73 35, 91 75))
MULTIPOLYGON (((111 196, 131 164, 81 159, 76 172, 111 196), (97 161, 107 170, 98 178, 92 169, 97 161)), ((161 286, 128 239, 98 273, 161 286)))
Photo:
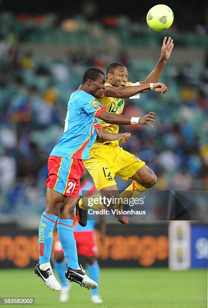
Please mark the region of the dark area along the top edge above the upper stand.
MULTIPOLYGON (((44 2, 38 0, 36 2, 29 1, 13 1, 7 0, 1 1, 1 10, 12 11, 15 13, 47 13, 56 12, 60 17, 70 17, 77 12, 83 12, 83 5, 86 3, 94 4, 94 15, 93 19, 99 19, 106 15, 118 15, 125 14, 134 19, 141 20, 145 16, 144 12, 148 12, 151 7, 159 4, 158 1, 137 1, 127 3, 126 1, 83 1, 71 2, 62 0, 61 3, 58 1, 45 0, 44 2)), ((177 25, 184 27, 184 29, 193 29, 197 22, 205 23, 205 9, 207 8, 204 1, 170 1, 161 2, 167 6, 170 6, 175 13, 175 20, 177 25), (178 13, 178 14, 177 14, 178 13)))

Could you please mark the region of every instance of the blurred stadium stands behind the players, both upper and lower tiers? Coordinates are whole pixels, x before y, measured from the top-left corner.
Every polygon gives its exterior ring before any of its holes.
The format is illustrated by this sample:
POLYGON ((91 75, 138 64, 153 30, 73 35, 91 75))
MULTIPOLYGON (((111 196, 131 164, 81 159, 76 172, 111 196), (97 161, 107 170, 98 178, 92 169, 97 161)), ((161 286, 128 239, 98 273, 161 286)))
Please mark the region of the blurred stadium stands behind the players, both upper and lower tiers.
MULTIPOLYGON (((64 27, 73 25, 78 29, 66 32, 61 30, 62 21, 57 21, 55 15, 39 18, 15 17, 9 13, 0 15, 4 25, 0 29, 0 174, 7 162, 14 166, 10 177, 5 179, 7 185, 2 184, 3 180, 0 184, 2 213, 14 212, 15 203, 17 212, 24 212, 26 206, 41 213, 47 158, 62 134, 70 93, 79 87, 86 67, 95 65, 105 70, 109 61, 105 55, 86 56, 81 52, 65 55, 62 61, 38 58, 32 52, 18 56, 16 43, 96 44, 101 47, 108 35, 113 35, 119 38, 122 46, 154 47, 161 44, 163 37, 163 34, 153 35, 145 25, 123 17, 92 24, 81 17, 74 21, 77 24, 69 23, 64 27), (13 36, 9 39, 10 32, 13 36), (35 190, 39 198, 29 197, 28 189, 35 190), (39 205, 35 207, 37 200, 39 205)), ((204 47, 207 40, 196 34, 177 32, 174 38, 177 45, 190 48, 204 47)), ((155 65, 153 61, 123 60, 128 62, 132 82, 145 80, 155 65)), ((153 129, 133 130, 134 137, 125 148, 141 157, 156 172, 156 188, 181 188, 178 178, 185 174, 190 180, 186 181, 184 189, 207 189, 207 68, 205 70, 199 62, 168 64, 161 81, 168 86, 164 96, 151 92, 142 94, 140 100, 126 100, 125 112, 130 107, 142 114, 153 110, 156 121, 153 129)), ((128 130, 131 131, 131 127, 128 130)), ((124 188, 123 182, 119 181, 119 185, 124 188)))

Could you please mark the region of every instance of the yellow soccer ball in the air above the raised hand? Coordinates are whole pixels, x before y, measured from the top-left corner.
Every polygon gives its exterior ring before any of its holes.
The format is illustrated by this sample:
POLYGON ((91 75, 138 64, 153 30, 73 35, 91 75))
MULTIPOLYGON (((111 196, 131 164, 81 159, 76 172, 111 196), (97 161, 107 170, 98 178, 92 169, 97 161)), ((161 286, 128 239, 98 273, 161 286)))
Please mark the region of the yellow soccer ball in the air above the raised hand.
POLYGON ((165 5, 157 5, 147 13, 147 24, 154 31, 163 31, 173 23, 173 11, 165 5))

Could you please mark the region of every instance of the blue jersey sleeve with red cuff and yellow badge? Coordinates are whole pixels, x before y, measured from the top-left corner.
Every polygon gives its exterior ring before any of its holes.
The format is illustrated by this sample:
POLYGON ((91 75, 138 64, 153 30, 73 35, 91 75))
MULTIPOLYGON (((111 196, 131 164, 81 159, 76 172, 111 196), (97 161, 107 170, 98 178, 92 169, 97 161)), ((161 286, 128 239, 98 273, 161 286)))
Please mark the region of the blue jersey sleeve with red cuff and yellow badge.
POLYGON ((85 113, 98 118, 102 111, 106 109, 106 107, 102 106, 99 102, 93 99, 93 96, 87 95, 84 100, 81 100, 80 107, 85 113))

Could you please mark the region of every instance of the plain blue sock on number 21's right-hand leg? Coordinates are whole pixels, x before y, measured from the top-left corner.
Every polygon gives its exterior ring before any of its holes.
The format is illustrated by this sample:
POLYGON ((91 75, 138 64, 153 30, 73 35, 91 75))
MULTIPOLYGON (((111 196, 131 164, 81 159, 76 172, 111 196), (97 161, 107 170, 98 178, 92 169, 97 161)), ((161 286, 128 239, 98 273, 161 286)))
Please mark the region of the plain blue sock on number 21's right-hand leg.
POLYGON ((67 264, 72 269, 79 268, 76 241, 73 234, 73 219, 58 219, 58 238, 66 258, 67 264))

